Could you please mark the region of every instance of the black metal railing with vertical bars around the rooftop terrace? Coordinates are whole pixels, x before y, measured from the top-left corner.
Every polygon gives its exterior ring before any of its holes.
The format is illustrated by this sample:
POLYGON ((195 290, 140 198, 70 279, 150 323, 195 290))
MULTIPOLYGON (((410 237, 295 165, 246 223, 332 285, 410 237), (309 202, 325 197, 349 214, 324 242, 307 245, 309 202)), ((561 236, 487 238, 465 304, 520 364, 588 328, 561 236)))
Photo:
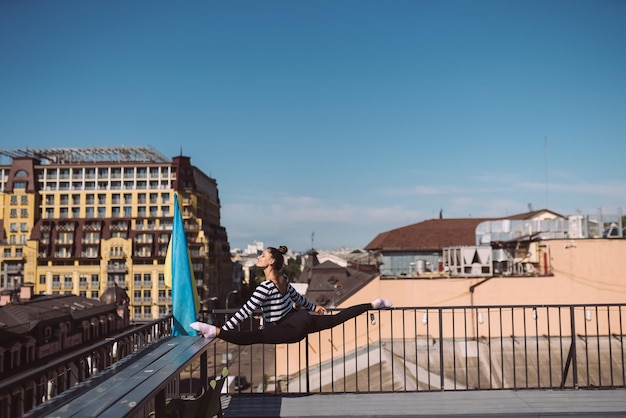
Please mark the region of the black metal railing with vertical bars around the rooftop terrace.
MULTIPOLYGON (((210 320, 219 325, 234 312, 214 310, 210 320)), ((225 366, 225 390, 234 395, 625 388, 625 324, 626 304, 370 310, 294 344, 217 339, 196 356, 206 358, 206 373, 195 361, 170 376, 168 396, 195 393, 198 374, 211 379, 225 366)), ((94 361, 99 370, 110 365, 115 342, 121 359, 169 335, 171 316, 3 381, 0 417, 20 416, 93 376, 94 361)))

